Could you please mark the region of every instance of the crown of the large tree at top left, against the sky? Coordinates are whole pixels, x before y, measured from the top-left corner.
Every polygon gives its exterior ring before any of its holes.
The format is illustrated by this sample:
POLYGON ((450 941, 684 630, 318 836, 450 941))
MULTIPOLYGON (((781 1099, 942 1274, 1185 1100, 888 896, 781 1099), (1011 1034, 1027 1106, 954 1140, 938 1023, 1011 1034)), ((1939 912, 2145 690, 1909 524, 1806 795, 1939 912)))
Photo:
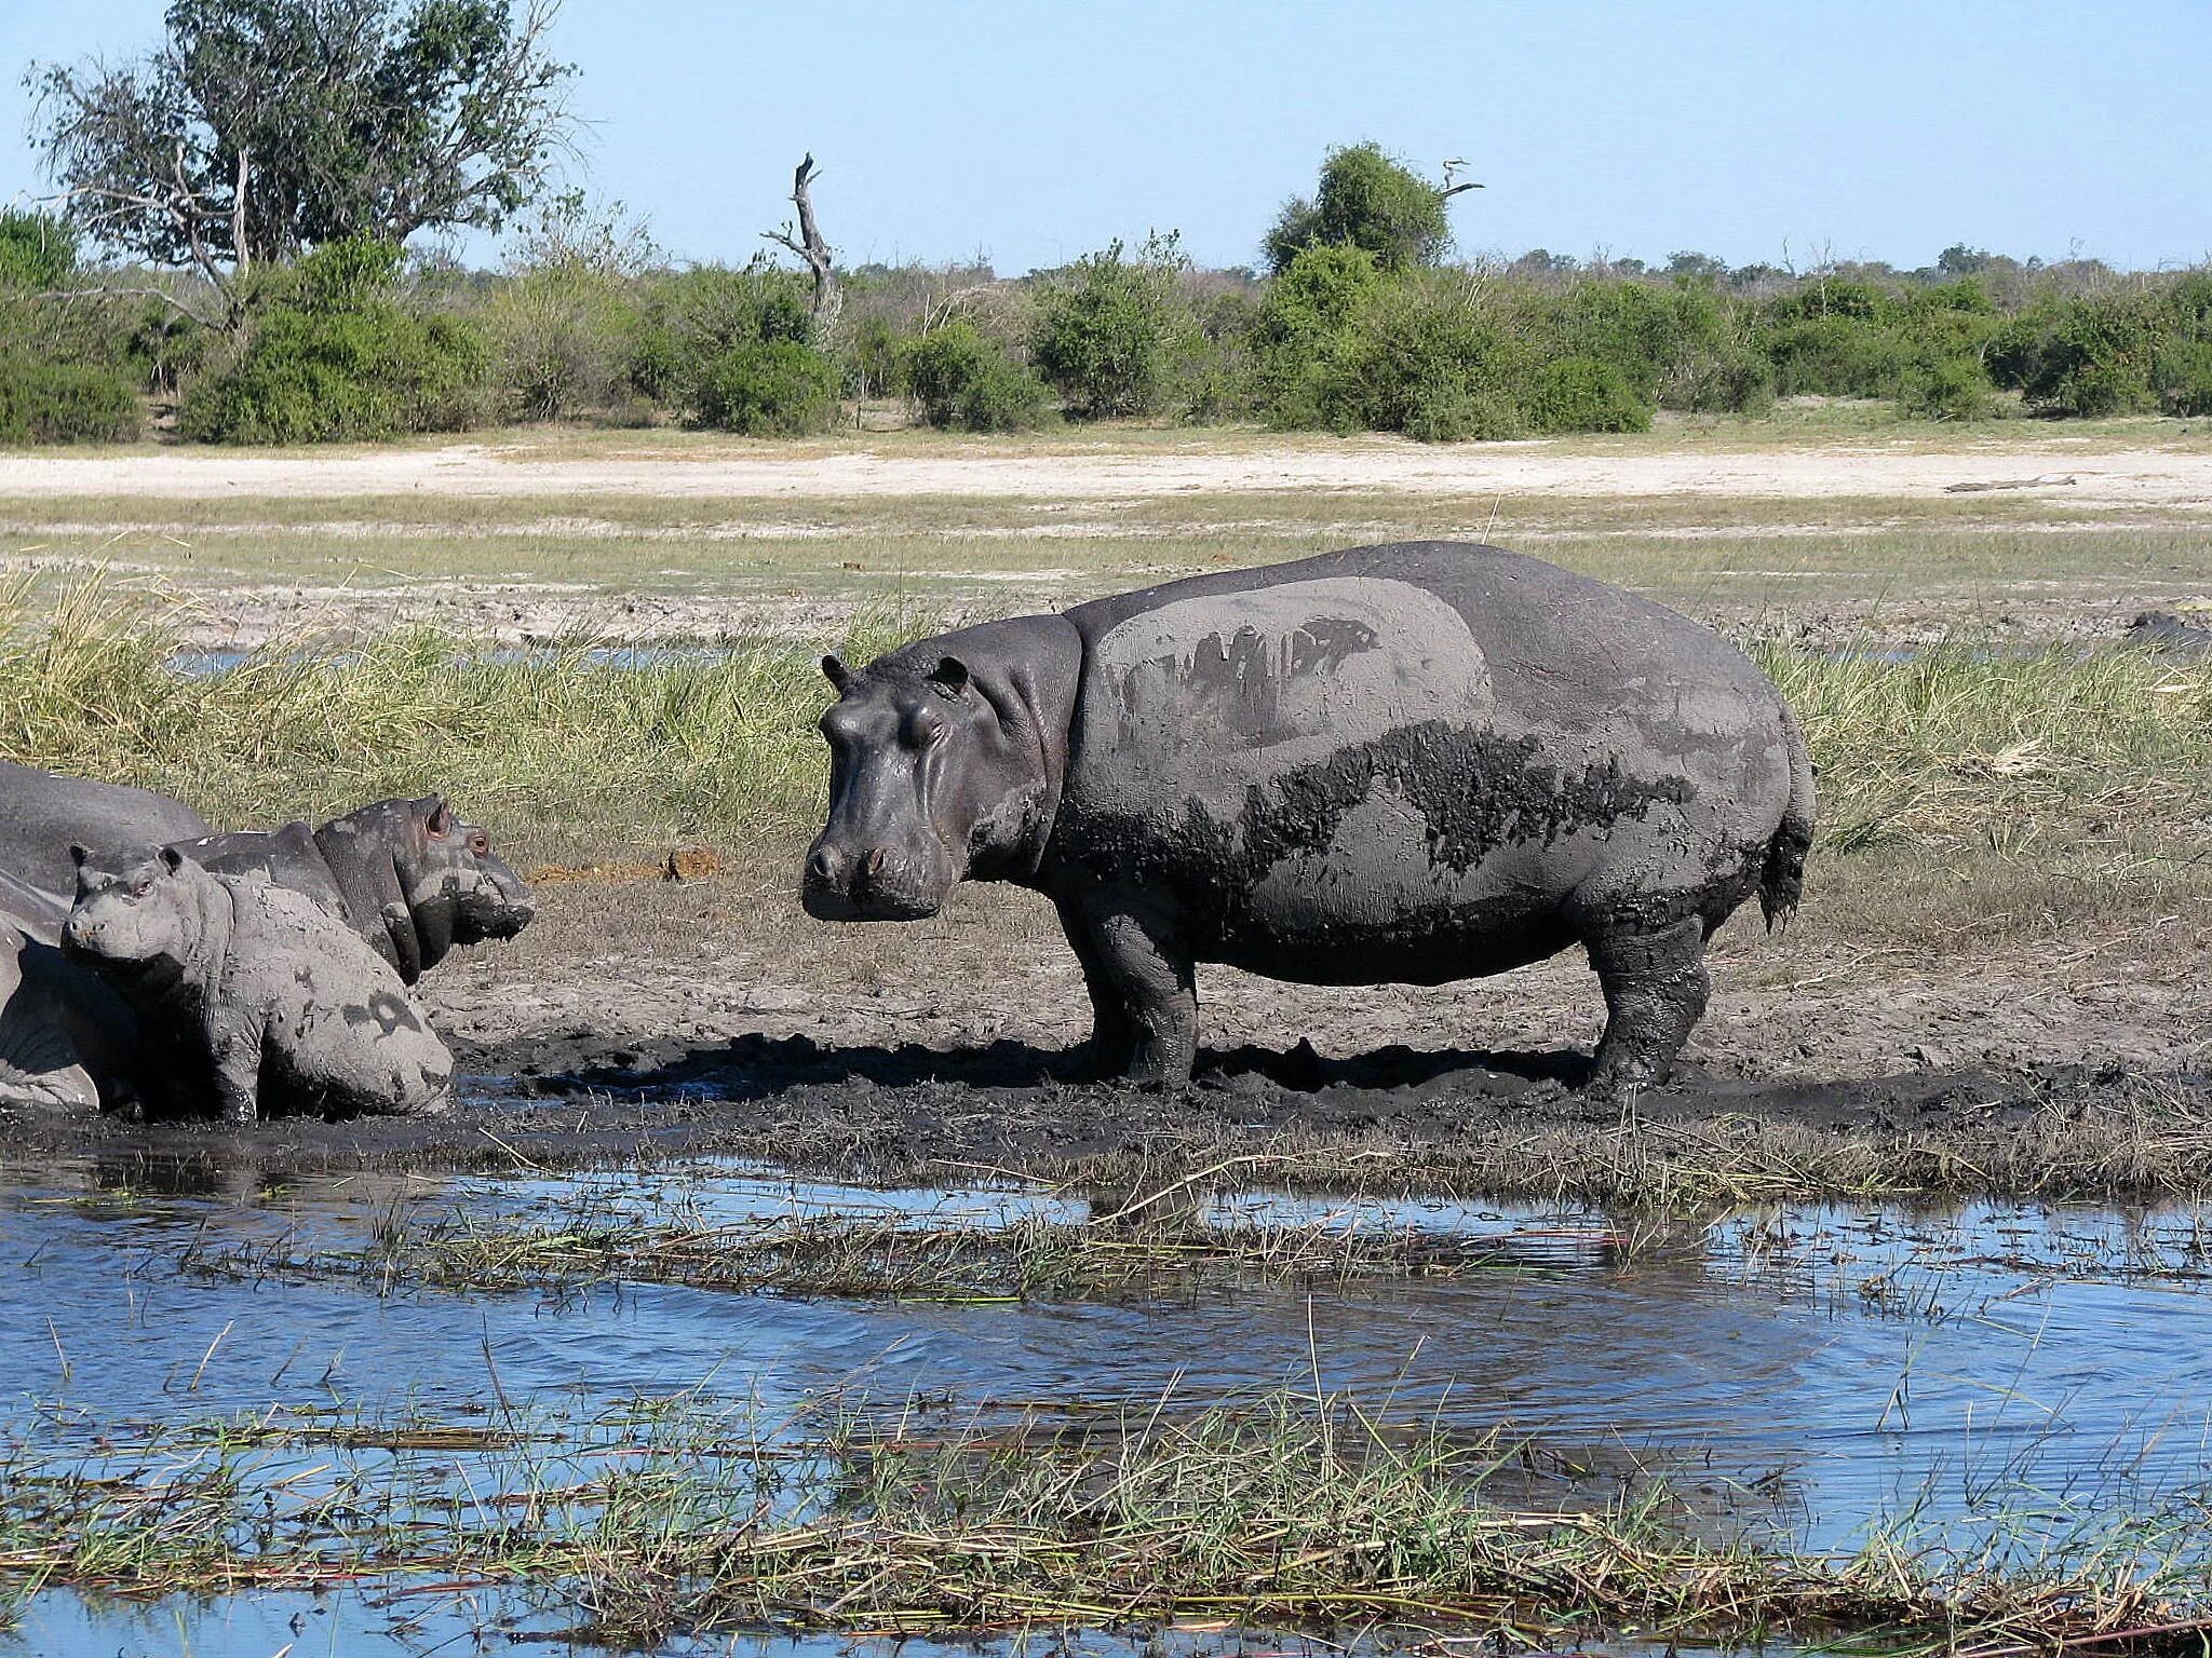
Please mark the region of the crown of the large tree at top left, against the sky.
POLYGON ((197 270, 327 241, 498 230, 568 146, 560 0, 173 0, 137 62, 33 66, 33 144, 69 219, 197 270))

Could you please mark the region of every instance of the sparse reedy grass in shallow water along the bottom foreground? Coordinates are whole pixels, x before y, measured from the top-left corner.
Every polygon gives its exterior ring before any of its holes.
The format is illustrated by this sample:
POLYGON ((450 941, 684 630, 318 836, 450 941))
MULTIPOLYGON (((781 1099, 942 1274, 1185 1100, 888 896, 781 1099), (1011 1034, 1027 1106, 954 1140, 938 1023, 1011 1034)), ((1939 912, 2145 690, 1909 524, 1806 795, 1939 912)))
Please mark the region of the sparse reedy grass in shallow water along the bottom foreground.
POLYGON ((699 1395, 595 1421, 270 1410, 91 1450, 9 1444, 0 1581, 131 1596, 526 1581, 595 1638, 637 1645, 1221 1620, 1509 1645, 1854 1631, 2004 1658, 2157 1649, 2212 1605, 2188 1499, 2042 1514, 2028 1552, 1989 1517, 1966 1552, 1882 1532, 1807 1556, 1725 1541, 1650 1479, 1535 1505, 1531 1459, 1321 1393, 1073 1424, 823 1404, 763 1424, 699 1395))

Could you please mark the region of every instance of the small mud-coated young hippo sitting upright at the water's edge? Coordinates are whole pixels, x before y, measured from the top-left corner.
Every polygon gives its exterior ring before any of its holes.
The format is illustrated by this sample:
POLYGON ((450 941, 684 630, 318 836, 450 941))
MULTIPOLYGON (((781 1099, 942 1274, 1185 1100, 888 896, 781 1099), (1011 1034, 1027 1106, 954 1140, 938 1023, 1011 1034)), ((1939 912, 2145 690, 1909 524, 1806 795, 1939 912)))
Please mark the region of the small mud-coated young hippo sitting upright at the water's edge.
POLYGON ((451 1110, 453 1057, 392 964, 332 911, 268 875, 217 875, 175 847, 108 875, 77 864, 62 953, 210 1081, 232 1123, 451 1110))

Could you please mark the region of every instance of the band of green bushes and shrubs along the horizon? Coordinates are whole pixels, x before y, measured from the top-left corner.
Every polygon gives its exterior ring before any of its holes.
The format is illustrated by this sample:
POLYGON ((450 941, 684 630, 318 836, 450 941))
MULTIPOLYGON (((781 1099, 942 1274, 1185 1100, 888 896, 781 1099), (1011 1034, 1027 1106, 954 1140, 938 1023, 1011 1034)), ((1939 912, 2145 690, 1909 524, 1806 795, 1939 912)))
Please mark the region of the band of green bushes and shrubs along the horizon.
POLYGON ((241 444, 515 420, 774 438, 860 411, 1460 440, 1644 431, 1659 409, 1756 416, 1807 393, 1931 420, 2212 413, 2212 272, 1966 250, 1927 272, 1807 276, 1690 254, 1449 265, 1420 225, 1327 221, 1327 181, 1285 208, 1265 274, 1197 270, 1166 237, 1022 279, 860 267, 821 312, 801 274, 679 267, 571 208, 498 272, 327 241, 250 270, 206 323, 188 276, 86 267, 69 225, 0 214, 0 442, 124 440, 168 409, 184 438, 241 444))

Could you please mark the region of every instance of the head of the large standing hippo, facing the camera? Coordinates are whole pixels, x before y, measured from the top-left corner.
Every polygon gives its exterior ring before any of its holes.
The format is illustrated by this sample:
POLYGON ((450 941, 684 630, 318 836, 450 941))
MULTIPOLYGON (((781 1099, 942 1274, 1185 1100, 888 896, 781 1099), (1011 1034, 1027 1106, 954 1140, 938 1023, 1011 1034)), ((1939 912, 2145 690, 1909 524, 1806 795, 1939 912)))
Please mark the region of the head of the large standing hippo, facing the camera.
POLYGON ((823 672, 838 701, 830 741, 830 822, 807 851, 801 898, 825 922, 936 915, 956 882, 1033 871, 1066 772, 1066 712, 1042 707, 1037 676, 971 628, 823 672), (978 646, 956 654, 956 646, 978 646))

